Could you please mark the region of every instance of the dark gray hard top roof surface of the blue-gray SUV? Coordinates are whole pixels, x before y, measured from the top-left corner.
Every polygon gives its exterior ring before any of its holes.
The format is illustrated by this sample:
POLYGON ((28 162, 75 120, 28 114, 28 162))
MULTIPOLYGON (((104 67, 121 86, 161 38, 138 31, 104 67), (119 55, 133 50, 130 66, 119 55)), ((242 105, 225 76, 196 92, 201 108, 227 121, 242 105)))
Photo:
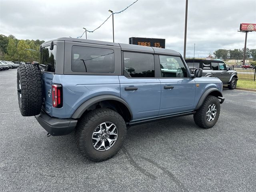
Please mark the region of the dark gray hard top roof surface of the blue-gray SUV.
POLYGON ((106 41, 81 39, 81 38, 62 37, 62 38, 57 38, 57 39, 54 39, 54 40, 46 41, 43 44, 48 43, 48 42, 52 42, 52 41, 73 41, 73 42, 83 42, 83 43, 110 45, 110 46, 120 47, 122 50, 126 50, 126 51, 148 52, 148 53, 156 53, 156 54, 171 54, 171 55, 180 56, 179 52, 171 50, 171 49, 163 49, 163 48, 140 46, 140 45, 132 45, 132 44, 124 44, 124 43, 113 43, 113 42, 106 42, 106 41))

